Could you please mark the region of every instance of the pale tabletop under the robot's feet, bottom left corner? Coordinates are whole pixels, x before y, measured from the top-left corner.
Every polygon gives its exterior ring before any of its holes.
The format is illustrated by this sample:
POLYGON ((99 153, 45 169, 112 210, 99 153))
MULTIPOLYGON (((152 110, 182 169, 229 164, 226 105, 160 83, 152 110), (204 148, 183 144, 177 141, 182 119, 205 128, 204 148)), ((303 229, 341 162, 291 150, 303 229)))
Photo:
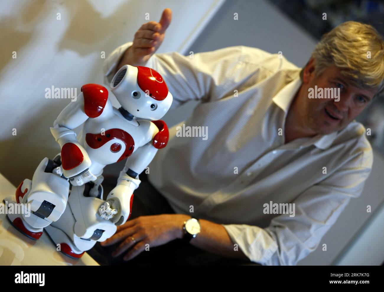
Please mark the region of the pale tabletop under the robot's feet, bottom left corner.
MULTIPOLYGON (((13 186, 0 173, 0 202, 6 196, 15 194, 13 186)), ((98 265, 88 253, 78 259, 67 257, 56 251, 46 232, 38 240, 32 240, 16 230, 6 218, 0 214, 0 265, 98 265)))

